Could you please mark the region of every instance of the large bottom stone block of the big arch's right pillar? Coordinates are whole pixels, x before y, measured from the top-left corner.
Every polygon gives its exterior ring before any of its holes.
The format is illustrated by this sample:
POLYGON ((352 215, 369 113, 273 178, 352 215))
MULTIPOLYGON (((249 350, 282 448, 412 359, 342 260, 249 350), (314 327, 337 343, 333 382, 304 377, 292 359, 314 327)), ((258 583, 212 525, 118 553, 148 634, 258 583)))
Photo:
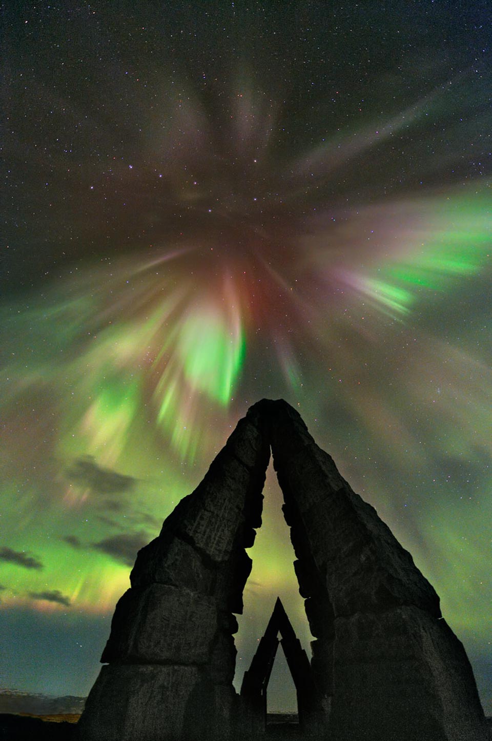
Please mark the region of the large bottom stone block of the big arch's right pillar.
POLYGON ((338 618, 330 738, 488 741, 462 643, 415 607, 338 618))

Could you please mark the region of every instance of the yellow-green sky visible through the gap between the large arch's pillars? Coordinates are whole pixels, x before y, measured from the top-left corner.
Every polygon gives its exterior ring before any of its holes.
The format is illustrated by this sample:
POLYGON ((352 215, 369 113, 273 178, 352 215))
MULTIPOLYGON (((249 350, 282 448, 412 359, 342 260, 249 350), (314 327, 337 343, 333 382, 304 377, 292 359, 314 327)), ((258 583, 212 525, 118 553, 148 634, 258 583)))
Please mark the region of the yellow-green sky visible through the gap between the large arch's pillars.
MULTIPOLYGON (((286 608, 295 634, 309 659, 310 642, 314 640, 309 631, 304 599, 299 594, 294 572, 296 556, 290 540, 290 528, 283 516, 283 494, 272 461, 266 472, 263 496, 262 525, 256 531, 255 544, 246 549, 253 565, 243 592, 243 614, 236 615, 239 629, 234 637, 237 648, 234 686, 237 693, 240 692, 244 672, 251 665, 277 597, 286 608)), ((297 712, 294 682, 280 647, 269 679, 267 698, 269 712, 297 712)))

